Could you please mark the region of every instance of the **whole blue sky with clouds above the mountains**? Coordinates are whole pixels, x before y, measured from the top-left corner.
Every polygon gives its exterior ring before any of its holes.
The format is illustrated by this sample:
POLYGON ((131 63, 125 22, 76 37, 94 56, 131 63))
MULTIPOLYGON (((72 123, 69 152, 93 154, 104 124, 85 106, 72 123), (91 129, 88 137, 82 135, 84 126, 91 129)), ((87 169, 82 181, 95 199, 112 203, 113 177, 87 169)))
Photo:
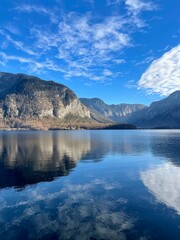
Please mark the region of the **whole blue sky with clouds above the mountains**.
POLYGON ((179 0, 0 0, 0 71, 108 104, 180 90, 179 0))

